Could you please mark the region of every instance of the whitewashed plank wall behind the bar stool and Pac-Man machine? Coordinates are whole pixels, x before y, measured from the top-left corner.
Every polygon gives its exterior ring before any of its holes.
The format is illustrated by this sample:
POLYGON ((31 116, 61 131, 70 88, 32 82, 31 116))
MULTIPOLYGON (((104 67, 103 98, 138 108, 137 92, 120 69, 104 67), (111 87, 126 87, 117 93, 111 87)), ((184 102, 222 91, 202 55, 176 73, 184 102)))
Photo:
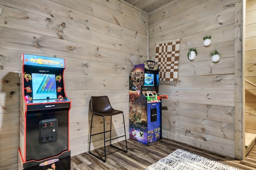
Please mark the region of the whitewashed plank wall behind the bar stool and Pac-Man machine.
MULTIPOLYGON (((72 156, 88 151, 91 96, 107 95, 123 110, 128 131, 128 77, 147 59, 147 18, 120 0, 1 0, 0 169, 17 166, 22 53, 66 59, 72 156)), ((124 135, 120 120, 112 120, 114 130, 124 135)), ((94 123, 97 132, 102 121, 94 123)), ((100 139, 93 139, 92 149, 103 146, 100 139)))

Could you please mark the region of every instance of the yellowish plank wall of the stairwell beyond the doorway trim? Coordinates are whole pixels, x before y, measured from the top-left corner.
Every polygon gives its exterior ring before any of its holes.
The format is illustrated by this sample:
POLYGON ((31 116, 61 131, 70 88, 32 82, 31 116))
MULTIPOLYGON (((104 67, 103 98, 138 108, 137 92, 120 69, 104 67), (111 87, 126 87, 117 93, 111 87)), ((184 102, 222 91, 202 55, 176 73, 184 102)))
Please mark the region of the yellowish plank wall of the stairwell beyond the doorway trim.
MULTIPOLYGON (((245 79, 256 84, 256 0, 246 1, 245 79)), ((256 87, 245 84, 245 131, 256 134, 256 87)))

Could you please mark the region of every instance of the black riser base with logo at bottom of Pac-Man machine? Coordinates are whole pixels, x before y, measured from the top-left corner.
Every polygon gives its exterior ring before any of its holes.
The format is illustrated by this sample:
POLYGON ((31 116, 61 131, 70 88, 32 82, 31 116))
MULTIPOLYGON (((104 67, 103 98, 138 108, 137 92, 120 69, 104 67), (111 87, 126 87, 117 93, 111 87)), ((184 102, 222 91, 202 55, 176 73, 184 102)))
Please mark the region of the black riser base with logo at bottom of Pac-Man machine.
POLYGON ((52 158, 28 162, 22 161, 20 150, 18 151, 18 170, 70 170, 70 150, 52 158))

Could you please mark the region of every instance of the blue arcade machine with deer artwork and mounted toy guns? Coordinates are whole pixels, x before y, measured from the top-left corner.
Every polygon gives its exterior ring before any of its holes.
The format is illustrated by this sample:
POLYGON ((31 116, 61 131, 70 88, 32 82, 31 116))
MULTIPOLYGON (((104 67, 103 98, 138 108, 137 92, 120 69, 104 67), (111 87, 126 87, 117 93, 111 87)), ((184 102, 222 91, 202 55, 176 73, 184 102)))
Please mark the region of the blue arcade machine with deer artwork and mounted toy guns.
POLYGON ((159 84, 158 65, 145 61, 130 72, 130 139, 149 144, 161 139, 161 99, 156 90, 159 84))

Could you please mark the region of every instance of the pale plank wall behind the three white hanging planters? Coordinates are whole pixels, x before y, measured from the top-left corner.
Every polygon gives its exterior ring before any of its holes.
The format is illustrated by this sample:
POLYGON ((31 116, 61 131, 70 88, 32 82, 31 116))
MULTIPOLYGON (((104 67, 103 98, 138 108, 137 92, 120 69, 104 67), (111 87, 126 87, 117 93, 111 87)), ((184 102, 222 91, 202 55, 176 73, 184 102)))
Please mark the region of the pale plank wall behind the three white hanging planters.
POLYGON ((163 137, 230 157, 235 157, 235 3, 178 0, 149 13, 150 59, 159 40, 182 39, 177 86, 159 86, 159 94, 169 96, 162 102, 163 137), (209 47, 203 45, 206 35, 212 36, 209 47), (190 48, 198 51, 194 61, 187 57, 190 48), (221 54, 217 64, 209 57, 214 49, 221 54))

